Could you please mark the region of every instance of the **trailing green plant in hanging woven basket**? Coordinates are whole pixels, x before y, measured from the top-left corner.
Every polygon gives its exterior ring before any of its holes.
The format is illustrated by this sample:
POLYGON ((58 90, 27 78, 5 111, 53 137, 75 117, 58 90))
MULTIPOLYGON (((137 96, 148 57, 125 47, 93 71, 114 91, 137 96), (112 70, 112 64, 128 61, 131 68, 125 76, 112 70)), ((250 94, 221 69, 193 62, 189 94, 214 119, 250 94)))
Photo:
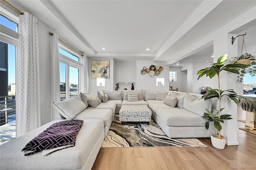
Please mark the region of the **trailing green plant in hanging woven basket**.
POLYGON ((256 76, 256 59, 253 55, 245 53, 240 56, 233 57, 234 63, 245 64, 246 68, 238 69, 239 75, 237 76, 237 82, 242 83, 244 74, 249 73, 251 76, 256 76))

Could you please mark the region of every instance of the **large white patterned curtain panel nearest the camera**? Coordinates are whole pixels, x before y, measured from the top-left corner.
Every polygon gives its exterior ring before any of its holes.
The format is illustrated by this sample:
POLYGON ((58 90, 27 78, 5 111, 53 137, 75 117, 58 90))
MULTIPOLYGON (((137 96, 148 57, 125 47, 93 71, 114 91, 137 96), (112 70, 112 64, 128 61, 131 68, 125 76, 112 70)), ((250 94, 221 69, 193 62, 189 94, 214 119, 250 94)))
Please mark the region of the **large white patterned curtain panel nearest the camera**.
POLYGON ((39 55, 36 18, 20 15, 17 137, 40 127, 39 55))

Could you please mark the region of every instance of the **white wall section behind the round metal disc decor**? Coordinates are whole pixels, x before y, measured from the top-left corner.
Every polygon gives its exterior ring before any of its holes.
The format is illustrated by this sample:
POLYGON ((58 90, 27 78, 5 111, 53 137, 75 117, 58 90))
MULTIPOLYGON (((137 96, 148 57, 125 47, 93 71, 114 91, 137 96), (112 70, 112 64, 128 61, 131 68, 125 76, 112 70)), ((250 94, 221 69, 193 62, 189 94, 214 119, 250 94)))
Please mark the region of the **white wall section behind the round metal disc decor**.
MULTIPOLYGON (((134 67, 133 67, 134 68, 134 67)), ((160 83, 159 83, 160 84, 160 83)), ((137 60, 136 61, 136 89, 146 89, 150 91, 163 91, 169 90, 169 65, 164 65, 164 62, 154 62, 148 60, 137 60), (163 71, 161 71, 160 75, 150 76, 148 73, 142 75, 140 71, 144 66, 147 68, 150 65, 159 65, 163 67, 163 71), (164 78, 164 85, 156 86, 156 79, 164 78)))

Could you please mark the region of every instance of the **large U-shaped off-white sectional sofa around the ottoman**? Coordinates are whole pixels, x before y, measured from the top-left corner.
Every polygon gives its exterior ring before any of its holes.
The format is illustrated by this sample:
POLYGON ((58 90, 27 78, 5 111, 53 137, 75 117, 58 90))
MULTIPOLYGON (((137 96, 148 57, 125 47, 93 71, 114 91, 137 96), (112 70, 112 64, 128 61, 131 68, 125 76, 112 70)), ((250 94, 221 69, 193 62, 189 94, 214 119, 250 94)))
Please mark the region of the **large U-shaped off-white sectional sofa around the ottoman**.
POLYGON ((1 169, 91 169, 114 115, 119 113, 122 105, 147 105, 152 111, 152 118, 170 138, 210 137, 210 130, 204 127, 207 120, 201 116, 205 108, 212 109, 212 101, 198 100, 200 95, 189 93, 171 92, 168 95, 167 93, 147 90, 103 91, 98 92, 98 97, 92 93, 80 93, 80 98, 74 96, 56 102, 54 107, 58 112, 55 112, 55 118, 58 120, 51 121, 0 146, 0 167, 1 169), (138 94, 138 101, 129 101, 128 93, 138 94), (107 96, 108 100, 103 95, 107 96), (103 98, 105 103, 102 102, 103 98), (167 99, 175 99, 175 105, 167 99), (22 154, 22 148, 32 138, 53 123, 65 119, 84 120, 74 147, 47 156, 42 156, 41 152, 31 156, 22 154))

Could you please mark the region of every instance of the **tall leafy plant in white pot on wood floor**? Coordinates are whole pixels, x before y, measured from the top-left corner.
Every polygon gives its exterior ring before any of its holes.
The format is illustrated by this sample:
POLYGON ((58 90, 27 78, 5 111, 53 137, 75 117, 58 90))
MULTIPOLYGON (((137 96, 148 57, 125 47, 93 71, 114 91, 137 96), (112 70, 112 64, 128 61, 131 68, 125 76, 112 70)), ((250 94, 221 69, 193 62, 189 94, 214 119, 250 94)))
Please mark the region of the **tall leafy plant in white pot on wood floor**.
POLYGON ((221 56, 218 58, 217 63, 213 63, 211 67, 206 67, 205 69, 201 69, 197 72, 198 79, 200 79, 202 76, 206 75, 206 77, 210 77, 210 79, 214 76, 218 76, 218 89, 212 89, 209 88, 208 92, 202 96, 202 99, 212 99, 217 98, 218 99, 218 112, 212 113, 211 111, 206 109, 206 113, 202 117, 208 119, 208 121, 205 124, 206 128, 209 128, 210 122, 213 122, 214 125, 214 134, 211 134, 211 141, 212 145, 219 149, 224 149, 226 144, 226 138, 221 136, 220 131, 222 130, 222 126, 220 123, 224 123, 224 119, 232 119, 230 118, 231 115, 220 115, 220 112, 224 109, 220 107, 221 99, 223 97, 229 97, 232 101, 234 101, 236 104, 239 104, 238 95, 234 92, 233 89, 228 90, 221 90, 220 89, 220 72, 222 71, 228 71, 231 73, 239 74, 238 69, 244 69, 247 67, 245 64, 239 64, 234 62, 227 62, 227 54, 221 56), (218 133, 215 133, 215 129, 218 131, 218 133))

